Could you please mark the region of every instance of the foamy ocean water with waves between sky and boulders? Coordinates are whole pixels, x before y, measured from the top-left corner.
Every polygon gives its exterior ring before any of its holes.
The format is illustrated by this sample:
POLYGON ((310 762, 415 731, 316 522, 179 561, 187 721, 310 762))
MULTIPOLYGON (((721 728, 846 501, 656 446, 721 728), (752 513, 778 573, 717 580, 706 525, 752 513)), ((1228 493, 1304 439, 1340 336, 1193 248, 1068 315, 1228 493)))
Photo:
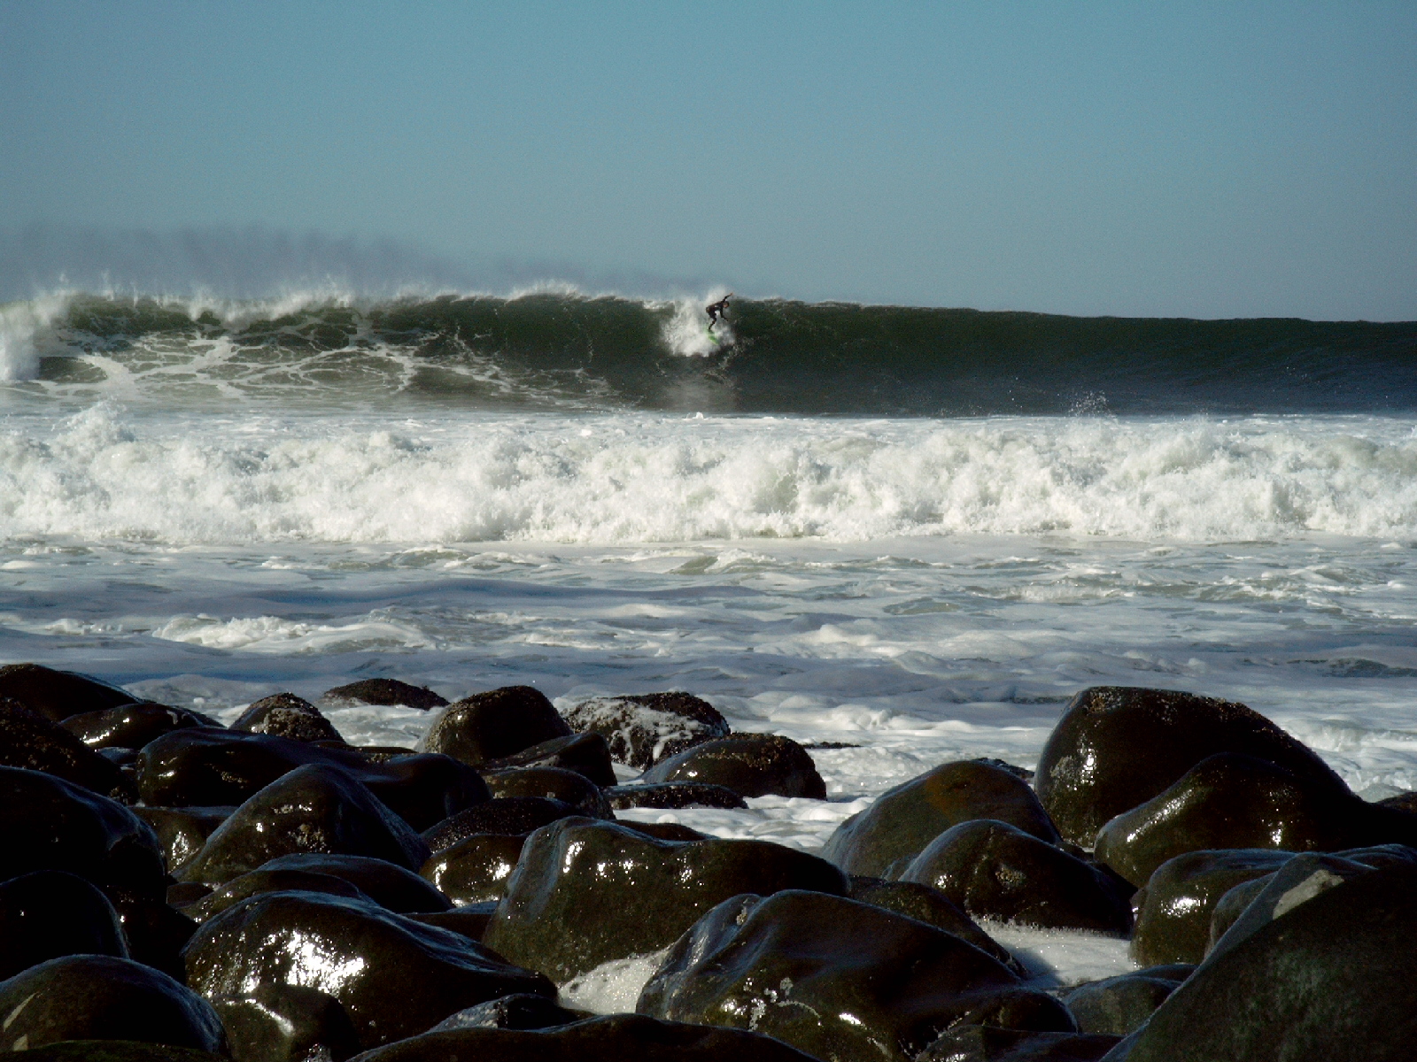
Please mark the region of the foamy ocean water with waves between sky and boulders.
MULTIPOLYGON (((769 300, 710 336, 703 302, 0 307, 0 661, 221 718, 374 675, 689 690, 822 746, 830 799, 623 816, 805 848, 941 762, 1032 767, 1097 684, 1417 789, 1417 326, 769 300)), ((1040 977, 1127 966, 998 932, 1040 977)))

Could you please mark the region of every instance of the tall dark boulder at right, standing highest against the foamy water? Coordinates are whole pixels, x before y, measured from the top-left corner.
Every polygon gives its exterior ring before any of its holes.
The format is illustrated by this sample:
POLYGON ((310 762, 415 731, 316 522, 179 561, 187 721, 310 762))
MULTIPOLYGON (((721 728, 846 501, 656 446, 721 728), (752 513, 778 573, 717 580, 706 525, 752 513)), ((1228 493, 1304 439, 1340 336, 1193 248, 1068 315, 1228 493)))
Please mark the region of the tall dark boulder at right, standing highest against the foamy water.
POLYGON ((1043 746, 1036 787, 1063 837, 1087 848, 1108 820, 1221 752, 1348 793, 1323 760, 1243 704, 1122 685, 1083 690, 1068 702, 1043 746))

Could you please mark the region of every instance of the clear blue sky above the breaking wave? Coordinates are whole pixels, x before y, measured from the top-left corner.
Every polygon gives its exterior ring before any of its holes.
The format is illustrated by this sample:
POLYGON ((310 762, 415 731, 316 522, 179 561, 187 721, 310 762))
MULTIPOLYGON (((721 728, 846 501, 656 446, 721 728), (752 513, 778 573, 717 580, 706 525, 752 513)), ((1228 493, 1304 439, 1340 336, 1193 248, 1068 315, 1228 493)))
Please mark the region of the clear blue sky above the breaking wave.
POLYGON ((0 232, 249 225, 751 295, 1417 319, 1417 3, 0 0, 0 232))

